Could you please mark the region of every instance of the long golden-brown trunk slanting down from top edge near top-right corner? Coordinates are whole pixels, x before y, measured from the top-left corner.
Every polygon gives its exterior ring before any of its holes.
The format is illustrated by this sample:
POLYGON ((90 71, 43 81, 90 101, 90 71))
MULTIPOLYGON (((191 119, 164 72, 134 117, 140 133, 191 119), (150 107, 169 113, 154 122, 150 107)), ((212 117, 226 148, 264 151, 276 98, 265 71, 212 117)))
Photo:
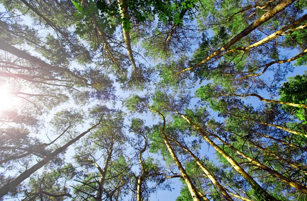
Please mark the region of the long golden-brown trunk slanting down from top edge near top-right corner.
POLYGON ((252 31, 254 31, 255 29, 257 29, 259 26, 261 26, 261 24, 265 23, 266 21, 268 21, 269 19, 271 19, 272 17, 274 17, 274 15, 276 15, 277 13, 279 13, 280 11, 282 11, 284 8, 288 7, 289 5, 291 5, 293 2, 295 2, 296 0, 282 0, 279 4, 277 4, 274 8, 268 10, 264 15, 262 15, 261 17, 259 17, 258 19, 256 19, 253 23, 250 24, 250 26, 248 26, 246 29, 244 29, 242 32, 240 32, 239 34, 237 34, 235 37, 233 37, 228 43, 226 43, 223 47, 221 47, 220 49, 217 49, 217 51, 215 51, 214 53, 212 53, 211 55, 209 55, 207 58, 205 58, 204 60, 202 60, 201 62, 199 62, 198 64, 189 67, 189 68, 185 68, 179 72, 177 72, 176 74, 180 74, 183 73, 185 71, 188 70, 192 70, 196 67, 199 67, 200 65, 206 63, 207 61, 209 61, 210 59, 212 59, 213 57, 216 56, 220 56, 226 49, 228 49, 231 45, 233 45, 234 43, 236 43, 237 41, 239 41, 240 39, 244 38, 245 36, 247 36, 249 33, 251 33, 252 31))

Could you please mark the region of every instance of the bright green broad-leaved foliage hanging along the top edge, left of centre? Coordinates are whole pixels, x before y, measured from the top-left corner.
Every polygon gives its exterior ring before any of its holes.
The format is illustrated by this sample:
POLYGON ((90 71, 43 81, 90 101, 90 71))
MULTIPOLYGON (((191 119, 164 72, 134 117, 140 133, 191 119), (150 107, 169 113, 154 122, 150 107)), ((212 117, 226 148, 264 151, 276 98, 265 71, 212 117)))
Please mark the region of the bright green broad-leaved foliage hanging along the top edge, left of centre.
POLYGON ((78 10, 75 13, 75 16, 78 20, 84 20, 83 23, 77 24, 76 33, 81 36, 85 33, 84 26, 87 26, 88 29, 94 28, 89 23, 91 17, 94 15, 99 16, 99 19, 95 17, 95 21, 105 33, 114 33, 117 24, 112 20, 113 17, 116 17, 117 20, 122 23, 124 30, 131 30, 130 17, 123 17, 120 14, 124 7, 126 7, 130 12, 130 15, 134 15, 139 22, 153 20, 155 15, 157 15, 158 19, 163 23, 173 21, 174 24, 179 24, 182 23, 183 16, 181 15, 181 12, 183 9, 191 10, 196 1, 184 0, 182 3, 171 1, 127 1, 127 3, 118 5, 117 1, 113 1, 109 4, 106 3, 105 0, 99 0, 97 1, 97 4, 92 1, 89 1, 89 3, 90 6, 84 8, 79 0, 73 1, 73 4, 78 10))

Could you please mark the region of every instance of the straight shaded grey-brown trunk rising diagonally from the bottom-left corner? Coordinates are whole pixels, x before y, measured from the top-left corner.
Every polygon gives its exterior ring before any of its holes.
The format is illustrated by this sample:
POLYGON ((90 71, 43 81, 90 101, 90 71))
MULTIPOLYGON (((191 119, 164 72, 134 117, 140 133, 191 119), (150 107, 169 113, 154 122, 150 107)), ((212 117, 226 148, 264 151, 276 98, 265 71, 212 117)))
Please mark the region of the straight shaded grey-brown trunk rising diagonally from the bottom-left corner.
POLYGON ((97 125, 99 125, 102 121, 102 117, 100 118, 100 120, 98 121, 98 123, 96 123, 95 125, 93 125, 93 127, 91 127, 90 129, 87 129, 87 131, 81 133, 80 135, 78 135, 76 138, 70 140, 69 142, 67 142, 66 144, 64 144, 63 146, 57 148, 53 153, 51 153, 50 155, 48 155, 47 157, 45 157, 44 159, 42 159, 41 161, 39 161, 38 163, 36 163, 35 165, 33 165, 31 168, 27 169, 26 171, 24 171, 23 173, 21 173, 18 177, 16 177, 15 179, 13 179, 12 181, 10 181, 9 183, 5 184, 4 186, 2 186, 0 188, 0 197, 3 197, 4 195, 6 195, 8 192, 14 190, 21 182, 23 182, 24 180, 26 180, 27 178, 30 177, 31 174, 33 174, 34 172, 36 172, 38 169, 40 169, 42 166, 46 165, 48 162, 50 162, 52 159, 54 159, 57 155, 59 155, 60 153, 64 152, 70 145, 72 145, 73 143, 75 143, 76 141, 78 141, 81 137, 83 137, 85 134, 89 133, 91 130, 95 129, 97 127, 97 125))

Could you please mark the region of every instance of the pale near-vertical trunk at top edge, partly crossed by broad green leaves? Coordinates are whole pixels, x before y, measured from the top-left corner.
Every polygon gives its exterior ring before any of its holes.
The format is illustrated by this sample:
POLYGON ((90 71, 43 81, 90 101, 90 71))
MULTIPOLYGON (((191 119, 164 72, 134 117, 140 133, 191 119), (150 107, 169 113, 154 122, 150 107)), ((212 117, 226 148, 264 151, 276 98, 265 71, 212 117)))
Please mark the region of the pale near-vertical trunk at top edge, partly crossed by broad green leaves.
MULTIPOLYGON (((129 13, 128 13, 128 1, 129 0, 118 0, 119 2, 119 10, 120 10, 120 14, 122 16, 122 18, 129 18, 129 13)), ((134 73, 137 74, 138 72, 138 68, 136 65, 136 61, 133 57, 133 51, 131 48, 131 40, 130 40, 130 31, 129 30, 125 30, 124 29, 124 24, 122 23, 122 30, 123 30, 123 36, 124 36, 124 40, 125 40, 125 44, 126 44, 126 49, 127 49, 127 53, 129 56, 129 60, 133 66, 134 69, 134 73)))

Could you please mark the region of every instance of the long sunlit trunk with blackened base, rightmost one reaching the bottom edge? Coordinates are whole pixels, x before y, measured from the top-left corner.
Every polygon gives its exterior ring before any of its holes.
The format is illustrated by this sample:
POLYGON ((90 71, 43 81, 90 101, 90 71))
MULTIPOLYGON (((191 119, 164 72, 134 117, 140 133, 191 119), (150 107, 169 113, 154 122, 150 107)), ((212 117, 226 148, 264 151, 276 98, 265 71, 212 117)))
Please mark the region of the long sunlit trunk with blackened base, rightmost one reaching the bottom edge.
POLYGON ((229 156, 220 146, 215 144, 210 138, 206 131, 203 131, 198 125, 194 124, 189 118, 185 115, 181 114, 180 112, 168 108, 169 110, 173 111, 174 113, 180 115, 183 119, 185 119, 191 126, 198 130, 198 132, 203 136, 203 138, 218 152, 220 153, 230 164, 231 166, 240 174, 242 177, 252 186, 252 188, 259 192, 261 195, 264 196, 266 200, 274 200, 277 201, 275 197, 270 195, 265 189, 263 189, 252 177, 249 175, 231 156, 229 156))

